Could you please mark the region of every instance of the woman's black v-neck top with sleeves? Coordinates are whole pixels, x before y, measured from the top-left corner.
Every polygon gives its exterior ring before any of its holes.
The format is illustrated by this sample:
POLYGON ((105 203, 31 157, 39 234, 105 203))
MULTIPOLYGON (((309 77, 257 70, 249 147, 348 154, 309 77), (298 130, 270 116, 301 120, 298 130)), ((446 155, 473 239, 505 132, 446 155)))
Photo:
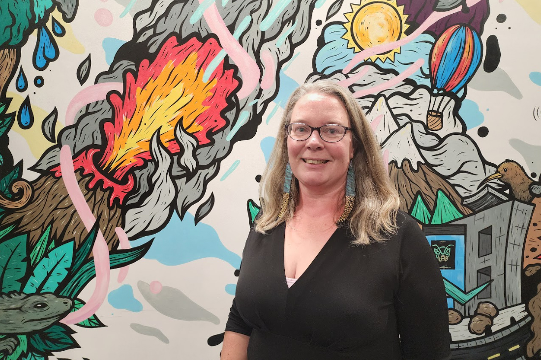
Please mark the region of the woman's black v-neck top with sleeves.
POLYGON ((338 228, 287 287, 285 225, 250 231, 226 330, 250 336, 249 360, 447 360, 438 263, 409 215, 385 243, 352 246, 338 228))

